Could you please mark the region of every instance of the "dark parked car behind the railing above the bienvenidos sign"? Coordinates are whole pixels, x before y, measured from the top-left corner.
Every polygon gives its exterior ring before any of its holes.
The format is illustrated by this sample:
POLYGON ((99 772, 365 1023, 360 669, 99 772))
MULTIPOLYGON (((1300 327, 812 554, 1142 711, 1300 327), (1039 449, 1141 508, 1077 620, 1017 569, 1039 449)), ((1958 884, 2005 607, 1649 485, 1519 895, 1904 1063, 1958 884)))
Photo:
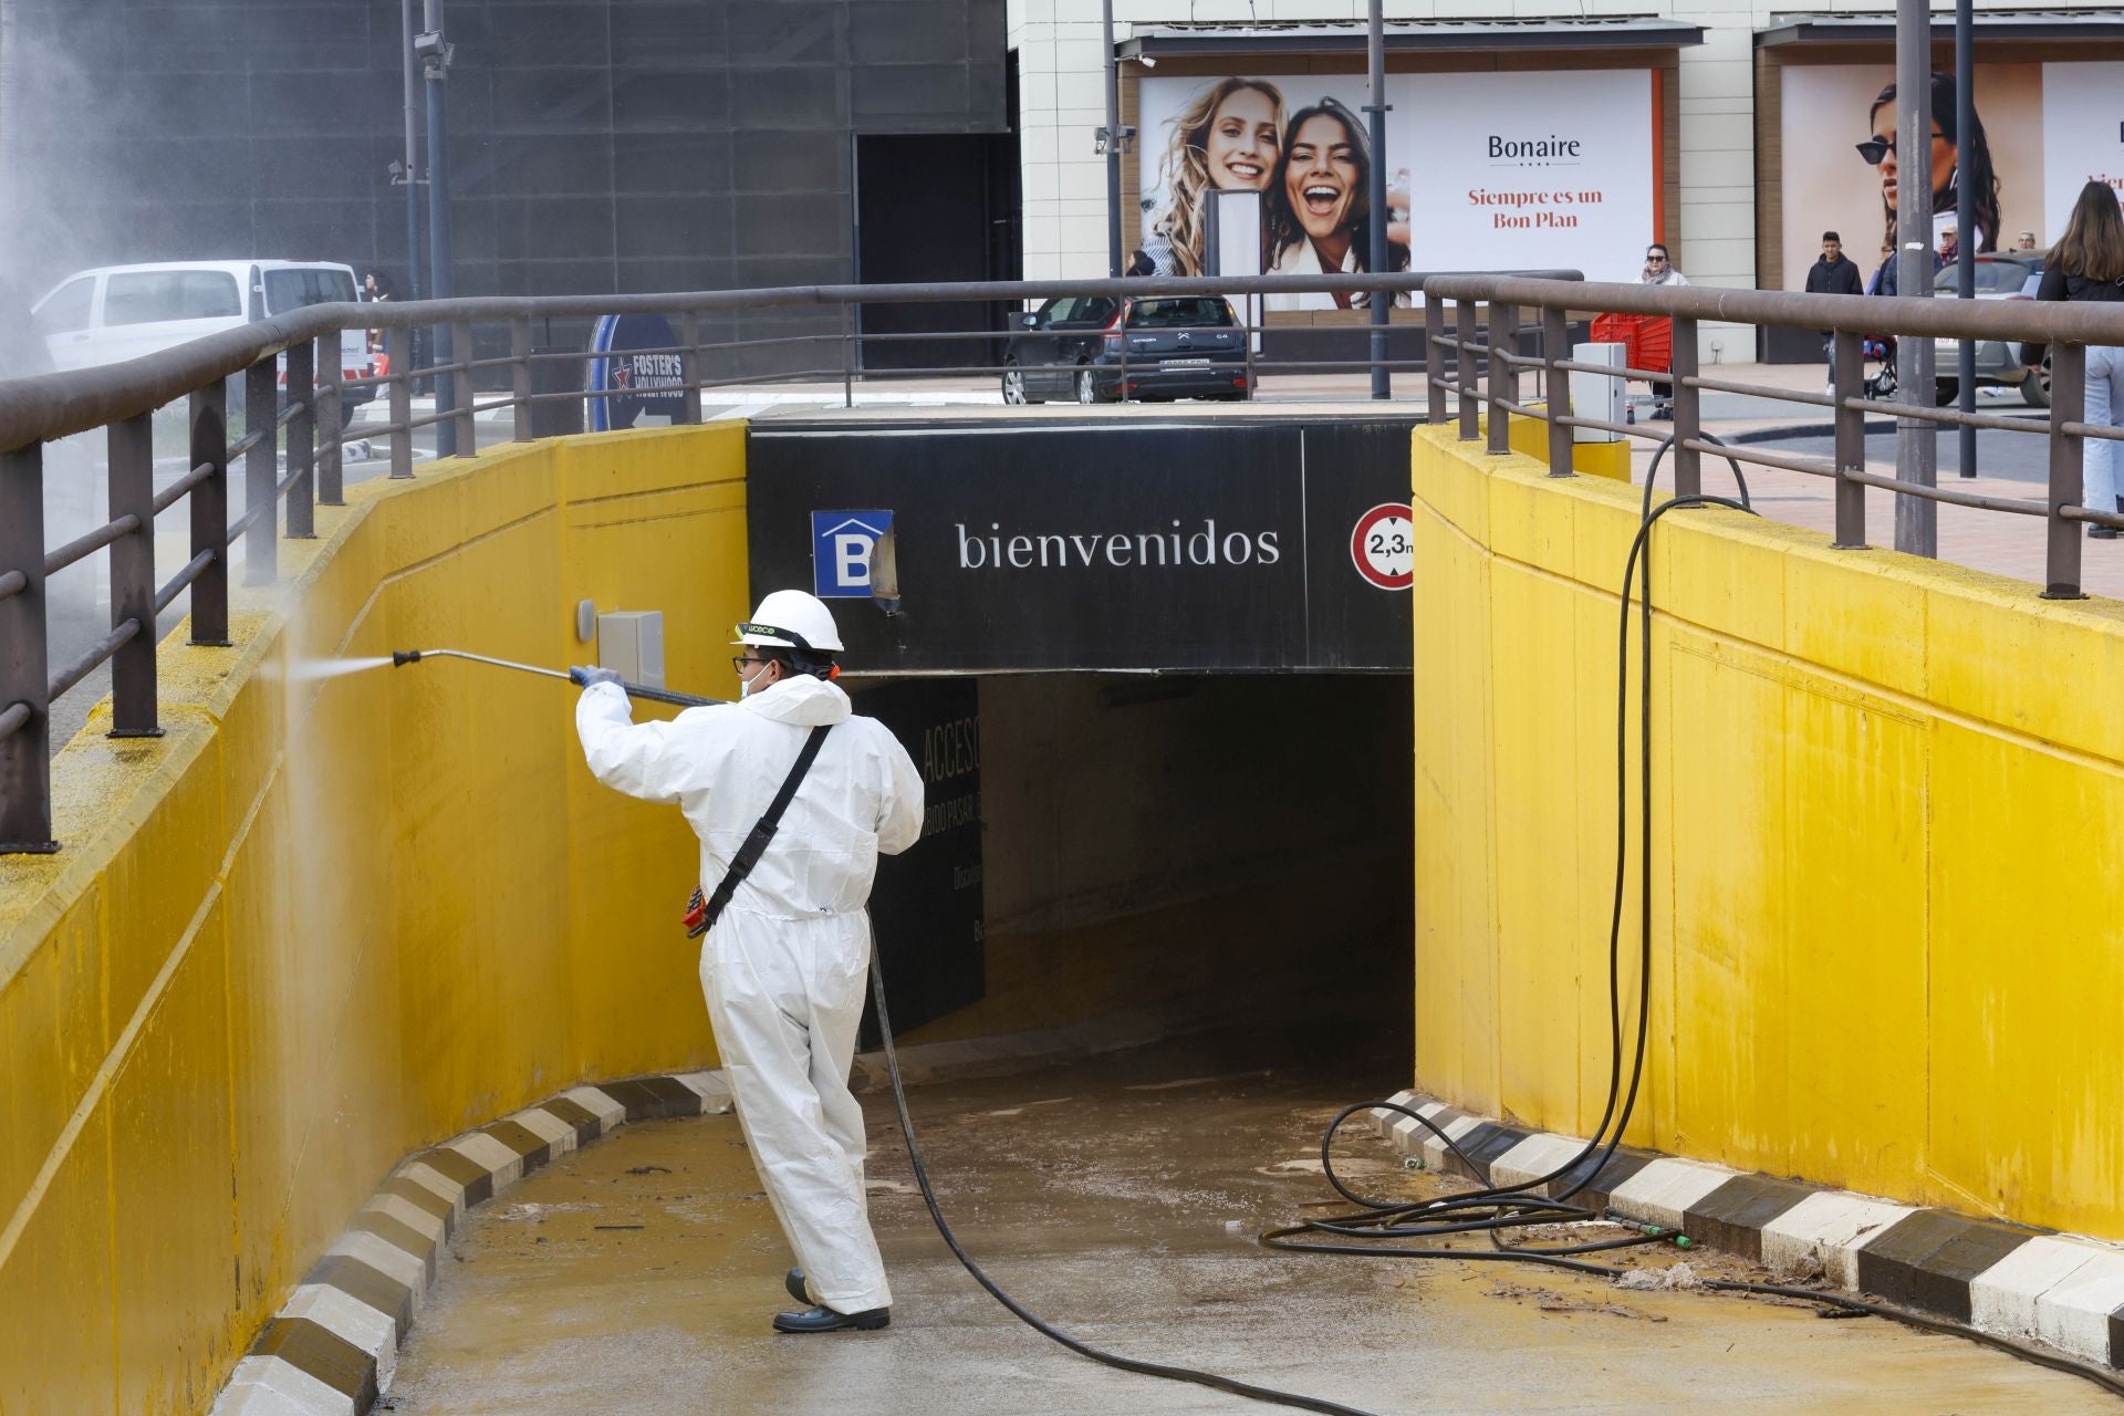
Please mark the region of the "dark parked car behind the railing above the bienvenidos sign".
POLYGON ((1251 395, 1247 331, 1217 295, 1064 295, 1013 316, 1003 355, 1005 403, 1251 395))

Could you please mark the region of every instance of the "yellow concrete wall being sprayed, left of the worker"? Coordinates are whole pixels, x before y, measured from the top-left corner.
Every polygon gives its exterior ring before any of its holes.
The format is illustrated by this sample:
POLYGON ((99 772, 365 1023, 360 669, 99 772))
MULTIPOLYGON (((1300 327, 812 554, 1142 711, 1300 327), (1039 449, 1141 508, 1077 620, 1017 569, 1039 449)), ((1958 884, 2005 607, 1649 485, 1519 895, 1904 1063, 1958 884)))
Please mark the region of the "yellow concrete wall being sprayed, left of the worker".
POLYGON ((599 788, 563 684, 393 647, 588 658, 663 609, 733 690, 743 427, 508 446, 367 482, 164 645, 159 741, 55 760, 64 853, 0 858, 0 1414, 206 1410, 406 1151, 578 1078, 714 1064, 675 917, 695 843, 599 788))

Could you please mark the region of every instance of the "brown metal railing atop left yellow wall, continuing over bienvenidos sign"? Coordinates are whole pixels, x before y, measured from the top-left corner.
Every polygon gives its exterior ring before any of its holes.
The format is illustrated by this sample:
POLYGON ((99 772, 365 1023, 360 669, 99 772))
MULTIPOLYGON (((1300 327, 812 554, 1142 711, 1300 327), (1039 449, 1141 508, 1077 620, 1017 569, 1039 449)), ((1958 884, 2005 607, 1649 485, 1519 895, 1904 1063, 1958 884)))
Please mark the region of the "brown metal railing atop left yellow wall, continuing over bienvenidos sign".
MULTIPOLYGON (((1576 272, 1536 272, 1576 280, 1576 272)), ((828 367, 799 372, 818 380, 839 380, 843 401, 854 403, 854 380, 922 378, 939 374, 994 374, 992 361, 926 369, 867 369, 862 344, 877 348, 911 344, 973 344, 1000 350, 1003 342, 1051 342, 1073 331, 888 331, 862 333, 854 318, 858 304, 979 301, 1015 304, 1066 295, 1128 293, 1228 295, 1228 293, 1410 293, 1423 274, 1381 276, 1270 276, 1111 280, 892 284, 892 287, 780 287, 763 291, 695 291, 678 295, 605 295, 554 299, 448 299, 393 306, 310 306, 289 316, 259 321, 236 331, 132 359, 117 365, 0 382, 0 851, 51 849, 49 813, 49 705, 79 686, 102 664, 113 675, 115 735, 155 735, 155 650, 157 618, 191 597, 191 643, 225 645, 229 633, 229 548, 244 543, 244 582, 270 584, 278 573, 280 537, 310 537, 316 505, 344 503, 344 452, 355 439, 389 439, 391 478, 414 476, 414 433, 442 427, 461 456, 478 452, 480 414, 514 412, 516 439, 529 439, 531 412, 544 403, 627 397, 622 391, 537 391, 533 367, 582 361, 588 355, 535 350, 531 321, 590 318, 601 314, 675 314, 680 342, 661 350, 678 355, 682 378, 680 420, 701 420, 703 388, 741 388, 758 382, 788 382, 792 369, 769 374, 709 372, 707 359, 773 359, 792 348, 818 348, 835 340, 843 355, 828 367), (750 338, 703 342, 703 318, 760 312, 837 310, 837 331, 752 333, 750 338), (503 323, 508 355, 482 357, 476 325, 503 323), (410 331, 448 329, 455 357, 427 367, 412 363, 410 331), (342 333, 382 329, 389 372, 346 369, 342 333), (476 376, 508 369, 508 397, 476 399, 476 376), (350 376, 353 374, 353 376, 350 376), (229 439, 227 382, 242 380, 244 435, 229 439), (444 382, 448 380, 448 382, 444 382), (452 397, 429 414, 414 414, 416 384, 442 386, 452 397), (285 391, 282 391, 285 388, 285 391), (344 427, 348 399, 367 401, 382 393, 389 418, 380 429, 344 427), (189 459, 181 478, 153 486, 153 414, 187 399, 189 459), (110 520, 51 550, 42 524, 40 444, 76 433, 108 429, 110 520), (285 444, 285 446, 282 446, 285 444), (229 476, 242 467, 244 512, 229 520, 229 476), (157 584, 155 518, 178 503, 191 524, 189 558, 157 584), (282 529, 285 514, 285 529, 282 529), (108 550, 113 628, 87 645, 64 671, 47 673, 45 577, 108 550)), ((1364 361, 1262 363, 1253 350, 1253 329, 1238 327, 1245 350, 1247 388, 1257 372, 1283 367, 1332 372, 1370 367, 1364 361)), ((631 350, 633 352, 633 350, 631 350)), ((822 361, 824 363, 824 361, 822 361)), ((1412 367, 1400 361, 1393 367, 1412 367)), ((1124 346, 1119 388, 1130 388, 1124 346)), ((635 391, 641 393, 641 391, 635 391)))

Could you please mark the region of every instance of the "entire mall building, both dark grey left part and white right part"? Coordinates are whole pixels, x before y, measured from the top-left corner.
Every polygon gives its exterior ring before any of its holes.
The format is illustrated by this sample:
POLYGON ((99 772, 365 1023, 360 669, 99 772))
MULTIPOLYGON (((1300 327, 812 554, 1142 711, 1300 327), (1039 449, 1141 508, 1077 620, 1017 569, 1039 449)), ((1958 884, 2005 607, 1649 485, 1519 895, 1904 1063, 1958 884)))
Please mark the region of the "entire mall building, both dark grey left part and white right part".
MULTIPOLYGON (((1192 151, 1179 119, 1211 89, 1251 81, 1236 87, 1251 151, 1232 161, 1202 142, 1202 168, 1211 185, 1238 172, 1270 214, 1291 119, 1338 104, 1361 127, 1370 102, 1366 0, 1113 0, 1111 53, 1100 0, 446 8, 459 295, 1104 274, 1111 59, 1136 132, 1119 163, 1124 261, 1185 267, 1202 234, 1172 231, 1192 151)), ((206 257, 333 259, 397 297, 423 289, 429 189, 408 210, 397 176, 397 4, 6 0, 0 21, 0 278, 25 299, 89 265, 206 257)), ((1693 282, 1778 289, 1803 282, 1825 229, 1861 265, 1880 261, 1880 168, 1856 151, 1882 132, 1880 0, 1389 0, 1387 21, 1383 166, 1389 204, 1408 208, 1395 263, 1635 280, 1663 240, 1693 282)), ((1952 70, 1943 15, 1935 40, 1952 70)), ((1982 242, 2048 244, 2088 176, 2124 180, 2124 8, 1986 0, 1975 59, 1980 132, 1954 144, 1939 195, 1988 168, 1982 242)), ((412 87, 427 178, 427 96, 412 87)), ((1294 244, 1281 259, 1319 257, 1294 244)), ((871 306, 862 329, 1000 318, 871 306)), ((839 333, 822 321, 780 312, 709 333, 839 333)), ((1754 355, 1752 333, 1706 325, 1703 340, 1706 361, 1754 355)), ((888 355, 935 363, 952 346, 877 342, 864 363, 888 355)))

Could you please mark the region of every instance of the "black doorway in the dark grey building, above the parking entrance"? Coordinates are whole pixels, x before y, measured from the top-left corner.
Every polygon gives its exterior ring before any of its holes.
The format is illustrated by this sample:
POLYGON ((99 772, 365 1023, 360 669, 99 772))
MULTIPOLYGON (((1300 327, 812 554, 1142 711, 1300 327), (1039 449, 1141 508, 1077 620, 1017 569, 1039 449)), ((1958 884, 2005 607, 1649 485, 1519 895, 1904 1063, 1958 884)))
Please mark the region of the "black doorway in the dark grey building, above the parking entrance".
MULTIPOLYGON (((1017 280, 1017 136, 856 138, 856 280, 1017 280)), ((996 333, 1003 306, 867 304, 864 335, 996 333)), ((867 369, 994 365, 1000 340, 867 340, 867 369)))

